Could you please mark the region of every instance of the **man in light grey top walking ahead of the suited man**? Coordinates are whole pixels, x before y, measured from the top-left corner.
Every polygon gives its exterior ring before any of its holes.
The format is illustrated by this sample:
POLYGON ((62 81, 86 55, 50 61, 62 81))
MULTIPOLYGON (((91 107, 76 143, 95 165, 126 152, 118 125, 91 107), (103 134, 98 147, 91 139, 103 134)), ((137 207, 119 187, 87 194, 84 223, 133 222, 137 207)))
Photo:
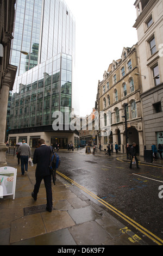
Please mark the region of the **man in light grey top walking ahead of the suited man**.
POLYGON ((20 160, 21 160, 21 172, 22 176, 25 172, 28 172, 28 159, 31 156, 31 151, 29 145, 26 143, 26 141, 22 141, 22 145, 18 147, 17 153, 20 153, 20 160), (25 166, 25 170, 24 170, 25 166))

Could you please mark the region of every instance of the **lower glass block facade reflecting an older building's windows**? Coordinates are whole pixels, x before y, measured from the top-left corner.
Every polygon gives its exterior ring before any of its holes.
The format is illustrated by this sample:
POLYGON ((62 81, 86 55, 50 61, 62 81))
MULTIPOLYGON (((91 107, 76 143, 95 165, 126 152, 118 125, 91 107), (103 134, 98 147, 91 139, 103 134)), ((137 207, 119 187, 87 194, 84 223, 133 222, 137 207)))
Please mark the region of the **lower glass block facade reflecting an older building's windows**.
POLYGON ((71 94, 72 57, 67 54, 58 54, 18 76, 11 98, 11 129, 52 125, 53 112, 64 113, 66 107, 71 113, 71 94))

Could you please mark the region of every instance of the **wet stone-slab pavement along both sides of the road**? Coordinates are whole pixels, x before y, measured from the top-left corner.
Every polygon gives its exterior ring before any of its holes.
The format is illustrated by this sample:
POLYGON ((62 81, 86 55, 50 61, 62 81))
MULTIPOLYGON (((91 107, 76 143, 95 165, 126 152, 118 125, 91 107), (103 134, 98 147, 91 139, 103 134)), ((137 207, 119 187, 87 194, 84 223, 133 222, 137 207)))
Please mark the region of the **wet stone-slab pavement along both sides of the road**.
MULTIPOLYGON (((78 154, 78 151, 71 154, 78 154)), ((105 152, 97 150, 95 154, 104 155, 105 152)), ((126 161, 125 155, 113 154, 126 161)), ((161 161, 157 164, 162 164, 161 161)), ((15 200, 12 196, 0 198, 0 245, 147 245, 126 225, 87 198, 80 188, 74 189, 59 175, 56 184, 52 185, 52 212, 46 211, 43 182, 37 200, 31 196, 35 166, 29 166, 22 176, 16 156, 7 155, 7 163, 17 169, 16 193, 15 200)))

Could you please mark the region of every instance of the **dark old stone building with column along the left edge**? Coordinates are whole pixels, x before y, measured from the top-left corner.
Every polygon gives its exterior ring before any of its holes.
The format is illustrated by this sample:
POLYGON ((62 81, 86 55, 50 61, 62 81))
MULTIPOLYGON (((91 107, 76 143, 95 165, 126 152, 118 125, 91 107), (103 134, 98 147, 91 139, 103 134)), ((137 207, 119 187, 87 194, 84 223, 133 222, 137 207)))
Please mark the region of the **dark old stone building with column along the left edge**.
POLYGON ((14 86, 17 66, 9 64, 16 0, 0 1, 0 167, 6 166, 5 144, 9 90, 14 86))

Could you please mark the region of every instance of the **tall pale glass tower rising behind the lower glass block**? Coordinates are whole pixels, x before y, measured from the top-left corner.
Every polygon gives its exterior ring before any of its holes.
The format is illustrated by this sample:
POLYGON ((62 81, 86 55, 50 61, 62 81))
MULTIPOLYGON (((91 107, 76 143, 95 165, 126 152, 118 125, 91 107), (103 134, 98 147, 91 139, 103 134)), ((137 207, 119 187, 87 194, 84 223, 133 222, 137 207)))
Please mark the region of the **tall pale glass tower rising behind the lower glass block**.
POLYGON ((75 21, 64 0, 17 0, 15 9, 10 64, 17 75, 61 52, 74 58, 75 21))

